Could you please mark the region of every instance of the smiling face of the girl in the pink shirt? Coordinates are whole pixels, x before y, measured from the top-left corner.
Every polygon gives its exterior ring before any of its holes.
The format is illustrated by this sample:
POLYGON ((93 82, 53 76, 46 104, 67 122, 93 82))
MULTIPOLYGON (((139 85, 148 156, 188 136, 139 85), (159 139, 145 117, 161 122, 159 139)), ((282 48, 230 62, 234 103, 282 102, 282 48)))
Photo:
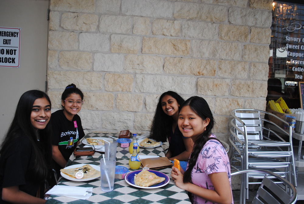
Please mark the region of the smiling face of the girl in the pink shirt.
POLYGON ((205 131, 210 119, 203 120, 199 117, 189 105, 182 107, 178 117, 178 127, 184 137, 191 137, 192 140, 205 131))

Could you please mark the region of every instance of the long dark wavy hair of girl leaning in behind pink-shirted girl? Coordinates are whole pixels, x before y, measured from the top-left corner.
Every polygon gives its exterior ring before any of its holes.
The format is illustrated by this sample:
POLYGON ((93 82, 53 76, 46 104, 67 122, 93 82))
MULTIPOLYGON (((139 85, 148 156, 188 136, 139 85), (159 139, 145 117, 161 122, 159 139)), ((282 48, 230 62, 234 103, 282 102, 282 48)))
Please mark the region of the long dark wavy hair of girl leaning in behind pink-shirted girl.
POLYGON ((179 105, 185 101, 180 95, 173 91, 164 92, 159 97, 150 129, 150 138, 162 142, 166 142, 167 138, 171 134, 172 124, 174 120, 171 116, 168 116, 166 113, 164 113, 161 107, 161 100, 165 95, 172 96, 179 105))

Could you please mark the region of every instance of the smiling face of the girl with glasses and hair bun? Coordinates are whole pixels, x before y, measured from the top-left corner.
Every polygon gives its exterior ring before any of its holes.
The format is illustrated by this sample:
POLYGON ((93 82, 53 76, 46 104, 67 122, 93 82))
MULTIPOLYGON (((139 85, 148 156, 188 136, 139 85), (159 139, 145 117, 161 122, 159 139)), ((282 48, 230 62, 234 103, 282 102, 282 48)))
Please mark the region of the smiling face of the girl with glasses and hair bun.
POLYGON ((72 121, 74 115, 76 115, 81 110, 81 103, 76 103, 76 101, 81 102, 81 96, 79 94, 72 93, 69 95, 65 101, 62 101, 63 112, 65 117, 72 121), (69 103, 69 101, 73 101, 74 103, 69 103))

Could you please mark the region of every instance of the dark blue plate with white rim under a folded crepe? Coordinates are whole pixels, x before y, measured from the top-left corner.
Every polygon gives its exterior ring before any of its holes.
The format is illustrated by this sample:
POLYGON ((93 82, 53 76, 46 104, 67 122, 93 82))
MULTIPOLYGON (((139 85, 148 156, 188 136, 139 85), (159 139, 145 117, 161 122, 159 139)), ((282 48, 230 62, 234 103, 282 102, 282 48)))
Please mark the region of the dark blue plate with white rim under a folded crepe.
POLYGON ((135 174, 138 174, 140 171, 142 170, 136 170, 136 171, 131 171, 130 173, 128 173, 125 177, 125 180, 128 184, 134 186, 134 187, 137 187, 137 188, 147 188, 147 189, 151 189, 151 188, 160 188, 160 187, 163 187, 165 185, 167 185, 170 181, 170 178, 165 175, 164 173, 160 172, 160 171, 154 171, 154 170, 148 170, 154 174, 156 174, 157 176, 159 177, 164 177, 165 180, 163 182, 160 182, 160 183, 157 183, 157 184, 154 184, 154 185, 151 185, 149 187, 143 187, 143 186, 138 186, 138 185, 135 185, 134 184, 134 176, 135 174))

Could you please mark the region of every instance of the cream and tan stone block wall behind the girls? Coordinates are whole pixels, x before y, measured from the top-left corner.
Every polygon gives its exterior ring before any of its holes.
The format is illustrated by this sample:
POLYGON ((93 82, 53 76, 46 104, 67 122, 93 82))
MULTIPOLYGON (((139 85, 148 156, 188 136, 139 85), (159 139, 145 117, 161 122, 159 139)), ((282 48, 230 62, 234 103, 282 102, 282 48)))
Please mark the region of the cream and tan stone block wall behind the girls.
POLYGON ((48 94, 85 94, 85 132, 149 131, 163 92, 207 100, 227 141, 230 111, 264 110, 271 0, 50 0, 48 94))

